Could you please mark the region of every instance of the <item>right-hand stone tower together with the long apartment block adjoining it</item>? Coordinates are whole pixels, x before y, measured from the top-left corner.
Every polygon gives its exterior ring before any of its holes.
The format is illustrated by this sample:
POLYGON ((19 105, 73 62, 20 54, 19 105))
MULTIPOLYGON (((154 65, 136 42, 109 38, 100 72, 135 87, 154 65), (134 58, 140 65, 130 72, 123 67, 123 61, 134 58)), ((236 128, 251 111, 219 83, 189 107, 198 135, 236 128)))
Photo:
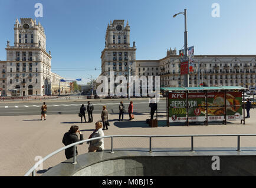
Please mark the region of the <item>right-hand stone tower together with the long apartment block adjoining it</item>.
MULTIPOLYGON (((107 26, 106 47, 101 52, 101 75, 109 76, 110 70, 116 76, 127 75, 127 61, 119 56, 119 53, 123 55, 127 52, 132 56, 131 75, 160 76, 161 87, 183 86, 176 48, 168 49, 166 57, 162 59, 136 60, 135 45, 130 47, 130 26, 127 24, 123 28, 123 23, 123 20, 115 20, 107 26), (124 35, 126 43, 122 41, 124 35)), ((256 55, 195 55, 194 63, 195 70, 189 73, 189 86, 199 86, 201 83, 208 86, 255 86, 256 55)))

